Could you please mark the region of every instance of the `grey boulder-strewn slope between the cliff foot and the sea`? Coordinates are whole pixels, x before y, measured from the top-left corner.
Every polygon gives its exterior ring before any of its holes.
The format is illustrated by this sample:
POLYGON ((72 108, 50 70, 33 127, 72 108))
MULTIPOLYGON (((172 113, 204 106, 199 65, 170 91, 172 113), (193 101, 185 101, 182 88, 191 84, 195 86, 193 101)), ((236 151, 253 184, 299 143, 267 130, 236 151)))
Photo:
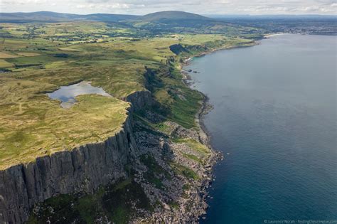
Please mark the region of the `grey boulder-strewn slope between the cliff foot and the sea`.
MULTIPOLYGON (((158 188, 153 178, 146 176, 146 170, 138 169, 136 181, 141 184, 152 203, 158 201, 161 206, 157 206, 153 212, 146 217, 137 217, 132 223, 198 223, 200 215, 205 214, 207 203, 205 198, 206 188, 210 186, 212 179, 211 167, 220 154, 211 149, 205 149, 205 153, 200 152, 184 142, 173 142, 177 137, 199 142, 199 132, 196 129, 186 129, 174 122, 166 122, 168 126, 166 134, 151 134, 146 131, 146 127, 141 127, 141 122, 135 122, 134 137, 139 147, 139 154, 151 155, 161 168, 154 171, 154 176, 162 186, 158 188), (186 154, 193 155, 193 160, 186 157, 186 154), (175 165, 176 164, 176 165, 175 165), (179 172, 177 168, 184 168, 179 172), (194 178, 191 174, 198 176, 194 178)), ((138 156, 141 157, 141 156, 138 156)), ((153 169, 153 164, 147 169, 153 169)))

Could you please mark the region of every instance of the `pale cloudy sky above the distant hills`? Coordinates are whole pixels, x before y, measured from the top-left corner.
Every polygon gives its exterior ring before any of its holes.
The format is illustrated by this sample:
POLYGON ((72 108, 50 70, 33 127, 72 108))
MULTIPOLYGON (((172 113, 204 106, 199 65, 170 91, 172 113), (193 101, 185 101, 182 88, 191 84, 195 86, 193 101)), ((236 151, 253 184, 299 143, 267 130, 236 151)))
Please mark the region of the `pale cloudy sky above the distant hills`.
POLYGON ((337 15, 337 0, 0 0, 1 12, 144 15, 166 10, 218 15, 337 15))

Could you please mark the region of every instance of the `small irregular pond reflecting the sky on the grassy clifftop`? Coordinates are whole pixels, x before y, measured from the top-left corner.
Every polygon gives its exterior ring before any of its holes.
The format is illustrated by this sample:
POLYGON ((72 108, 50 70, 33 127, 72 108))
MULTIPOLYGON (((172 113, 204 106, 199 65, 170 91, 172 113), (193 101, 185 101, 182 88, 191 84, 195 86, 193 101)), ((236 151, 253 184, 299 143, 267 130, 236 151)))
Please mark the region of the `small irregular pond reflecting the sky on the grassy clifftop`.
POLYGON ((83 94, 99 94, 103 96, 110 96, 102 87, 93 87, 90 82, 79 82, 74 85, 61 86, 60 89, 48 93, 48 96, 53 100, 60 100, 61 107, 71 107, 75 102, 75 97, 83 94))

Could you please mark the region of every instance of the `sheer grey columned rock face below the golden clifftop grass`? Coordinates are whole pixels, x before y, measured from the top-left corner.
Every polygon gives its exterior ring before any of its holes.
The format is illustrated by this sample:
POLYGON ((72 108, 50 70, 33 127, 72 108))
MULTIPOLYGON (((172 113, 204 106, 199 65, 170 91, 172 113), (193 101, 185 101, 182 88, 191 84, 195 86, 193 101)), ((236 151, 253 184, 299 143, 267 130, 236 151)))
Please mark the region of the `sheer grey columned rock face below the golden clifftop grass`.
POLYGON ((126 176, 124 166, 134 159, 135 150, 128 117, 124 128, 105 142, 60 151, 0 171, 0 223, 23 223, 37 202, 63 193, 92 193, 126 176))

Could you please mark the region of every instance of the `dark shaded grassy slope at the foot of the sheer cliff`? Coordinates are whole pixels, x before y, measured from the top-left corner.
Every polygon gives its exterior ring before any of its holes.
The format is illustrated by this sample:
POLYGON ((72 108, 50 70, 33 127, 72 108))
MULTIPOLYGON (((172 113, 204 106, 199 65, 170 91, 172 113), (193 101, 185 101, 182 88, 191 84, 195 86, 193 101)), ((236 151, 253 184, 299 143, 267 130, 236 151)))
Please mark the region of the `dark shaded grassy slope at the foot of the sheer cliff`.
POLYGON ((130 178, 102 187, 93 194, 55 196, 38 207, 38 211, 31 213, 28 224, 97 223, 102 217, 124 224, 129 223, 135 208, 153 210, 143 188, 130 178))

